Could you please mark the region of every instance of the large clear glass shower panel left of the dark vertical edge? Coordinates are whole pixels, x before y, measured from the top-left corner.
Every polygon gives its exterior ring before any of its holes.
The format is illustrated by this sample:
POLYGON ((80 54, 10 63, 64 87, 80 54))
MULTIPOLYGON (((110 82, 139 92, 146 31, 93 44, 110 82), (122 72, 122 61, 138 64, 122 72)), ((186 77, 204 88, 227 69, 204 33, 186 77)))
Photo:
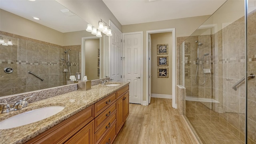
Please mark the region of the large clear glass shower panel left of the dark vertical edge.
POLYGON ((186 45, 184 114, 192 130, 203 144, 243 144, 246 84, 232 86, 246 71, 244 1, 227 0, 186 45))

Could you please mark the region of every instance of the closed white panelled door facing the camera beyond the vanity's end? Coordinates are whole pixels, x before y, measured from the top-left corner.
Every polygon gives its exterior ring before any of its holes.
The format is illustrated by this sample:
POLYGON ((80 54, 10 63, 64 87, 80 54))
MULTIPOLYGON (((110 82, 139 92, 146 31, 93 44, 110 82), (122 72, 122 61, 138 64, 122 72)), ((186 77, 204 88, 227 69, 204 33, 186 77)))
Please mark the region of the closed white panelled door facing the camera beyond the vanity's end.
POLYGON ((124 81, 130 82, 130 103, 142 103, 142 34, 124 34, 124 81))

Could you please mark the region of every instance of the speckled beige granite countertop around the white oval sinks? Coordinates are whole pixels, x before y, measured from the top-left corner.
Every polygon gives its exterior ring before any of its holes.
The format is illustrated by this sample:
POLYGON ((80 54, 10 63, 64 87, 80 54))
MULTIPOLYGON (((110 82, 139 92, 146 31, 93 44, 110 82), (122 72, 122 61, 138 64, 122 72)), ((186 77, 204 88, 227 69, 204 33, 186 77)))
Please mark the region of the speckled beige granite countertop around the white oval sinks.
POLYGON ((84 110, 88 106, 91 106, 92 104, 102 100, 109 94, 112 94, 113 92, 123 88, 129 84, 129 82, 118 82, 118 84, 120 85, 102 86, 101 84, 98 84, 96 86, 92 86, 90 90, 76 90, 73 92, 68 92, 66 94, 61 94, 44 100, 32 102, 28 107, 22 108, 21 110, 0 114, 0 121, 2 121, 18 113, 36 108, 46 106, 65 106, 62 111, 44 120, 16 128, 0 130, 1 144, 22 144, 41 134, 42 132, 52 128, 63 120, 66 120, 70 116, 73 116, 74 114, 84 110))

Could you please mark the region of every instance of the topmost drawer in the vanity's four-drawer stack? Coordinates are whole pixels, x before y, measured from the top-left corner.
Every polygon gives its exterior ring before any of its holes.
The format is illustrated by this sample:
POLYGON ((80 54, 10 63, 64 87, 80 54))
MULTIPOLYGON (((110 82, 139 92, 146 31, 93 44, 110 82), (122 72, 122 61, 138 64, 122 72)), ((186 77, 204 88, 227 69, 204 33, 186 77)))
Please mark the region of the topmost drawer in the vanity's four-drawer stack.
POLYGON ((94 107, 95 107, 94 117, 96 118, 96 116, 98 116, 101 112, 103 112, 108 106, 113 104, 115 101, 116 101, 116 93, 111 94, 110 96, 94 104, 94 107))

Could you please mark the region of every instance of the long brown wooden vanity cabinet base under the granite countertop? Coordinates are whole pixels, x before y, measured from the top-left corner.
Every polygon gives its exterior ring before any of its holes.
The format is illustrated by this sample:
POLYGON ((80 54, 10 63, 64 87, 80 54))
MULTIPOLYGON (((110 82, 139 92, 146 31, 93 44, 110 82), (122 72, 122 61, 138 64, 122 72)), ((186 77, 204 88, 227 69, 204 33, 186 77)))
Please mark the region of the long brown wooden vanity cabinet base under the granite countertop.
POLYGON ((129 86, 110 94, 26 144, 111 144, 129 115, 129 86))

